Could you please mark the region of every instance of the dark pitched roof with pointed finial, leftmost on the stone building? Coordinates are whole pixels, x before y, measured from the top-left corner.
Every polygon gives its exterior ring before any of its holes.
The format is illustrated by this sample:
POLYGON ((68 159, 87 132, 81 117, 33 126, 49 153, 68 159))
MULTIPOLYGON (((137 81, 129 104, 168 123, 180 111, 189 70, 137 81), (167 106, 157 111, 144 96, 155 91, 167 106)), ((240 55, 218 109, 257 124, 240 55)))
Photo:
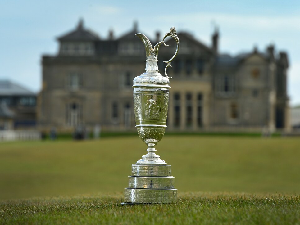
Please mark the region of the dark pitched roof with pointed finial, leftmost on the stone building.
POLYGON ((75 30, 57 38, 60 41, 97 41, 99 40, 98 34, 85 29, 83 20, 80 20, 75 30))

